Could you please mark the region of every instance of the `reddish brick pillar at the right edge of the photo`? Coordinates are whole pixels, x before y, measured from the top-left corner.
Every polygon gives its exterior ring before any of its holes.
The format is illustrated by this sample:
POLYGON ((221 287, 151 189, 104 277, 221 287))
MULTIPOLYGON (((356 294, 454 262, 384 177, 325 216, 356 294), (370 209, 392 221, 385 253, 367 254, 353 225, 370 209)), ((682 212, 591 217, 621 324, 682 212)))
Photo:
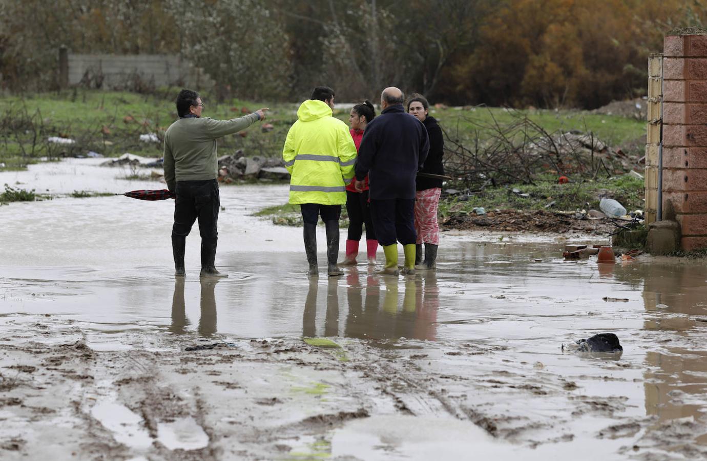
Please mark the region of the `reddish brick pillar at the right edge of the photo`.
POLYGON ((662 205, 694 250, 707 247, 707 35, 667 35, 663 56, 662 205))

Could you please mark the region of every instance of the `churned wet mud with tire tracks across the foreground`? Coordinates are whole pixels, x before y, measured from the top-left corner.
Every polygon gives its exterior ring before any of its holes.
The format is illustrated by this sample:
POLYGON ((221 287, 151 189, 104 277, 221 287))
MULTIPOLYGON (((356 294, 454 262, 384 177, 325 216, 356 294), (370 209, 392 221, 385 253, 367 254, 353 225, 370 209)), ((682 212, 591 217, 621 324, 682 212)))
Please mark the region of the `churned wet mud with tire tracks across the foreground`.
POLYGON ((1 421, 0 457, 269 459, 302 440, 330 440, 349 421, 395 414, 469 421, 528 448, 573 440, 577 421, 590 416, 605 422, 590 434, 595 440, 626 440, 616 455, 707 455, 694 443, 707 430, 699 421, 626 417, 625 398, 584 390, 588 380, 617 382, 620 373, 558 375, 497 346, 434 343, 421 351, 414 341, 337 339, 341 351, 334 352, 275 339, 185 351, 199 339, 153 339, 150 351, 144 338, 134 340, 136 349, 93 351, 77 329, 42 334, 53 344, 0 341, 0 409, 16 416, 16 423, 1 421), (134 430, 144 431, 148 445, 135 448, 105 426, 93 411, 105 402, 136 415, 134 430), (204 432, 203 447, 160 441, 160 427, 185 420, 204 432))

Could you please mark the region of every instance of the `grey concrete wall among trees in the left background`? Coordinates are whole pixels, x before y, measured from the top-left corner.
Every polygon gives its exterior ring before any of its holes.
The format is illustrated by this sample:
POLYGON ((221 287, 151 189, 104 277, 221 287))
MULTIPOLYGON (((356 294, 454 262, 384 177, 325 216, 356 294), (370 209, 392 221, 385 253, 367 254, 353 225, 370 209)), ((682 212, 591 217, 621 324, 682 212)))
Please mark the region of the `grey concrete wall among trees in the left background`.
POLYGON ((134 89, 144 86, 214 86, 200 69, 168 54, 69 54, 69 85, 93 88, 134 89))

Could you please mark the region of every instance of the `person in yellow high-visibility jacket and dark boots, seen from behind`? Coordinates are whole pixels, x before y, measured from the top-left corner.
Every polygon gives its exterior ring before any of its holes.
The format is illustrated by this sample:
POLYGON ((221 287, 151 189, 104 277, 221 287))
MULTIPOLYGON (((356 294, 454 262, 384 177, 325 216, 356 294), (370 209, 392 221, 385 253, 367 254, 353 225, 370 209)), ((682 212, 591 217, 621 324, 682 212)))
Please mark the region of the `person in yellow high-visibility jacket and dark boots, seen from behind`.
POLYGON ((356 146, 349 126, 332 117, 334 91, 317 86, 297 110, 298 120, 287 133, 282 158, 290 172, 290 203, 299 205, 310 276, 317 265, 317 221, 327 230, 327 274, 339 276, 339 216, 346 203, 346 184, 354 177, 356 146))

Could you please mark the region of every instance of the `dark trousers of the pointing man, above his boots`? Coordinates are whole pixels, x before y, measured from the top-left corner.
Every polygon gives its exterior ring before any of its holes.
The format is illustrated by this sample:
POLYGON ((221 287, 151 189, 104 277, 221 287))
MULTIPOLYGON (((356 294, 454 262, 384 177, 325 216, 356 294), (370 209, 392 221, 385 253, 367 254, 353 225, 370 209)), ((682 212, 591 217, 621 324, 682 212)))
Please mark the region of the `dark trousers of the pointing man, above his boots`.
POLYGON ((194 221, 199 220, 199 234, 204 240, 216 240, 218 232, 218 210, 221 199, 218 196, 218 182, 177 181, 175 187, 175 223, 172 226, 174 237, 186 237, 192 231, 194 221))

